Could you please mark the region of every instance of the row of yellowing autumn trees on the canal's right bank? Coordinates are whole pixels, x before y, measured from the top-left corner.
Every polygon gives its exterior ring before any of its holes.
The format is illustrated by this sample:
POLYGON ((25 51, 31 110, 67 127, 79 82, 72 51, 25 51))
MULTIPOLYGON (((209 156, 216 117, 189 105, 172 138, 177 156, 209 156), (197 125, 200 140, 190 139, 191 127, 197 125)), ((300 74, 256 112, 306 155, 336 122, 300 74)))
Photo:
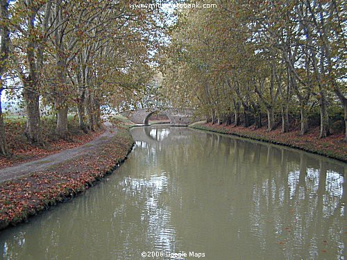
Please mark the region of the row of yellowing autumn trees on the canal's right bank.
POLYGON ((164 91, 212 121, 290 129, 301 134, 319 107, 320 137, 330 134, 329 108, 344 108, 347 140, 346 12, 343 1, 219 1, 183 10, 165 55, 164 91), (174 87, 173 87, 174 86, 174 87))

